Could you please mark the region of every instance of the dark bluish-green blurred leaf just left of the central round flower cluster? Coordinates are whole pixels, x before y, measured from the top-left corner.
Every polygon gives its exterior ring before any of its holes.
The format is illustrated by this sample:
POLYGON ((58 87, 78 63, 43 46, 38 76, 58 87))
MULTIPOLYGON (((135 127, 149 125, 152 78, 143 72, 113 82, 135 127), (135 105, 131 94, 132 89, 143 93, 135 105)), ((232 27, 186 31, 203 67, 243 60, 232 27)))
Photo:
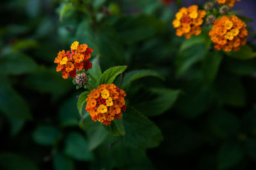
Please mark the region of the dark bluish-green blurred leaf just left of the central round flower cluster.
POLYGON ((76 94, 67 99, 60 106, 58 112, 61 127, 77 126, 79 120, 79 113, 77 111, 77 96, 76 94))

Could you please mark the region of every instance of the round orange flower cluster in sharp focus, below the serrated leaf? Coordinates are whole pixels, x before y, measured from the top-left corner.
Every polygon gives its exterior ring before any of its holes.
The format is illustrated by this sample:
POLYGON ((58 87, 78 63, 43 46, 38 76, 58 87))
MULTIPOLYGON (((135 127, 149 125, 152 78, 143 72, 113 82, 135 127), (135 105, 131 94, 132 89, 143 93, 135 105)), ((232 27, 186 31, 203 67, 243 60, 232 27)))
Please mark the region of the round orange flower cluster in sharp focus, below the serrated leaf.
POLYGON ((122 113, 126 110, 125 96, 125 91, 114 84, 99 85, 88 94, 85 109, 93 121, 109 125, 115 118, 122 118, 122 113))

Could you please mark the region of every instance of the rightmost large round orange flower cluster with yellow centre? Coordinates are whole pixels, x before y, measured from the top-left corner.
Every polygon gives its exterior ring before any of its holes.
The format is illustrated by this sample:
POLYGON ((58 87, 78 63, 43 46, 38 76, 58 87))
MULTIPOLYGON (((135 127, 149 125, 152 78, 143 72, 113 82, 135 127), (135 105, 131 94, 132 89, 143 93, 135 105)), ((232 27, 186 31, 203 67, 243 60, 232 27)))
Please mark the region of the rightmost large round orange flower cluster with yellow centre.
POLYGON ((245 27, 245 22, 235 15, 231 17, 223 16, 215 20, 209 36, 211 36, 217 50, 223 49, 225 52, 234 50, 234 52, 237 52, 241 46, 246 44, 248 31, 245 27))

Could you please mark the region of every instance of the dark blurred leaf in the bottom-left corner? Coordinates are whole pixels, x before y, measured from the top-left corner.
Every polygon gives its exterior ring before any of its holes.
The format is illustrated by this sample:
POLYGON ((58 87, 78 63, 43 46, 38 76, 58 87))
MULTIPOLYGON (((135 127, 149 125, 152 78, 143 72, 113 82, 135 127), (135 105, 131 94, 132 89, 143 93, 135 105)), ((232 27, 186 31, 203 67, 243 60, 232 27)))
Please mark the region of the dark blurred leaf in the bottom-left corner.
POLYGON ((39 170, 35 163, 24 155, 14 153, 0 153, 0 167, 4 170, 39 170))

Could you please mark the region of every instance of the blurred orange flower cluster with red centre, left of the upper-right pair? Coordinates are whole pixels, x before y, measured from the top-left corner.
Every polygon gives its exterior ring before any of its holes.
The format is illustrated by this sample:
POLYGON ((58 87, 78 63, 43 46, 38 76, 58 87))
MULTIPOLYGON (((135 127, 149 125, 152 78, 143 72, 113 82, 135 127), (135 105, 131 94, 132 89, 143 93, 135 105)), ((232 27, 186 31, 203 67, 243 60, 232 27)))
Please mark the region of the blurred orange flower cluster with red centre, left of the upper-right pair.
POLYGON ((173 27, 177 28, 176 35, 184 35, 186 39, 193 35, 198 36, 201 33, 200 25, 203 24, 205 15, 206 11, 198 10, 196 5, 189 6, 189 8, 180 8, 172 22, 173 27))

